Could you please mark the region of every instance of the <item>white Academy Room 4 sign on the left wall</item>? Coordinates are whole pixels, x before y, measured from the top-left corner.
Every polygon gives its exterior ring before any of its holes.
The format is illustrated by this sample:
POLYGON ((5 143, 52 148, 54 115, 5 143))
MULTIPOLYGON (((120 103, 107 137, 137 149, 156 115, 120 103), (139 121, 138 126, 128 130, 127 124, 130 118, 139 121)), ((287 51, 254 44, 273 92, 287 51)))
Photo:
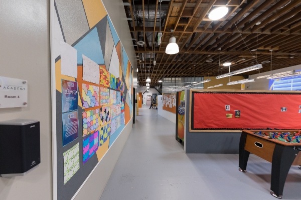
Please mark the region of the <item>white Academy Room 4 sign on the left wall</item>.
POLYGON ((0 108, 27 106, 27 80, 0 76, 0 108))

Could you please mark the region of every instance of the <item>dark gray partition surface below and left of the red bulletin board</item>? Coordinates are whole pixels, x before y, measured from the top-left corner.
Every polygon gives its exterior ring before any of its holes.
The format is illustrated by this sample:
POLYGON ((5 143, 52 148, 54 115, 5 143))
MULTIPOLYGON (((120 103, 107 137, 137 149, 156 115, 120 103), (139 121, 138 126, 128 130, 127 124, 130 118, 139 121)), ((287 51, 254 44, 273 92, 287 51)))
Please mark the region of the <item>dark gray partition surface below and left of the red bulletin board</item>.
POLYGON ((240 132, 189 132, 189 92, 185 93, 186 153, 239 153, 240 132))

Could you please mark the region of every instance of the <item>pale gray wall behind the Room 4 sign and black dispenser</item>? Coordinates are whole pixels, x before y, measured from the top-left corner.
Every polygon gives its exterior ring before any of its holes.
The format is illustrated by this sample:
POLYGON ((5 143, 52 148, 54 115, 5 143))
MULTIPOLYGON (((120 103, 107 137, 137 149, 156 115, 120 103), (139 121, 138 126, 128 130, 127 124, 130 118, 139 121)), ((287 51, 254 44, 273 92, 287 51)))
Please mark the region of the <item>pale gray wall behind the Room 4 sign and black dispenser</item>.
POLYGON ((28 106, 1 108, 0 120, 36 119, 41 126, 41 163, 25 176, 0 177, 0 199, 50 200, 52 137, 49 0, 2 0, 0 4, 0 75, 28 80, 28 106))

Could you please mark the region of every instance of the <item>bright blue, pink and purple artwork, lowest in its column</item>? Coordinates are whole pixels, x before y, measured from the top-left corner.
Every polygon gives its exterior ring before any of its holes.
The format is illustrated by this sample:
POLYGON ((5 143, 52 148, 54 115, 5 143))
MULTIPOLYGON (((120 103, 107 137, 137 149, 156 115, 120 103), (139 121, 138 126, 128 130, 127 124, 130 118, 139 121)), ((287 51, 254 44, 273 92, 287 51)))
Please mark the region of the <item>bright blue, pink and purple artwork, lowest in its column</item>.
POLYGON ((83 164, 86 163, 98 149, 99 130, 83 140, 83 164))

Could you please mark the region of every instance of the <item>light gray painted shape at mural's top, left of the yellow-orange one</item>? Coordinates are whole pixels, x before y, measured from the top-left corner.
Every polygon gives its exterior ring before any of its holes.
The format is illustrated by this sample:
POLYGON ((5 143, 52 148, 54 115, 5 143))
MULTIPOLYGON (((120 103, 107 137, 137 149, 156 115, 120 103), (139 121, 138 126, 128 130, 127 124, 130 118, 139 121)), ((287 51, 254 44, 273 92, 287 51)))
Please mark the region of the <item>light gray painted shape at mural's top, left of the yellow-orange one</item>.
POLYGON ((83 3, 81 0, 56 0, 55 2, 66 42, 72 45, 89 30, 83 3))

